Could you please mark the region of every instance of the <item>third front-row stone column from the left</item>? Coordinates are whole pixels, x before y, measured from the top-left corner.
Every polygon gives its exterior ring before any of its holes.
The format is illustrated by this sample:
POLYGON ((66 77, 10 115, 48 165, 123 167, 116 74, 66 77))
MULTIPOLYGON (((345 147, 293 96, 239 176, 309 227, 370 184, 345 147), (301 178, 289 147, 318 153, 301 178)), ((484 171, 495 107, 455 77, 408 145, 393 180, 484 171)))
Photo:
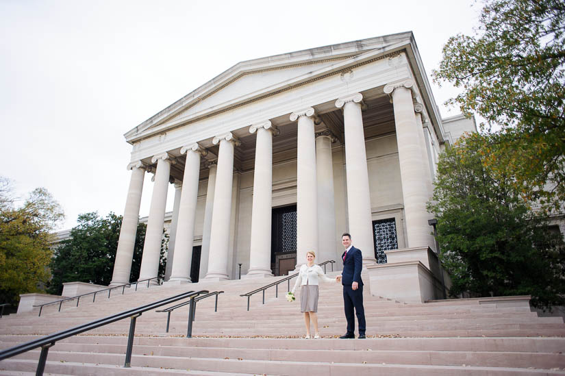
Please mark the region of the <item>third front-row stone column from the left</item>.
POLYGON ((194 241, 194 217, 198 199, 198 178, 200 175, 200 156, 208 151, 200 145, 192 144, 181 148, 186 153, 184 164, 183 190, 179 207, 177 225, 177 241, 175 245, 175 264, 170 281, 190 282, 190 266, 192 264, 192 242, 194 241))

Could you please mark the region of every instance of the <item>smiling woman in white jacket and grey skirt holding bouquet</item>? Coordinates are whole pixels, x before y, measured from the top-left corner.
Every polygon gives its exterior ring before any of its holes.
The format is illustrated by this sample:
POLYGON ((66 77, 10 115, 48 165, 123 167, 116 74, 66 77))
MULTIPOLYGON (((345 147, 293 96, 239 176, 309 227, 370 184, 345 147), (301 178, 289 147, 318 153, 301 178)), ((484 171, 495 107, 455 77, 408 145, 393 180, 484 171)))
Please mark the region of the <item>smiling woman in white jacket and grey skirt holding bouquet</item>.
POLYGON ((320 338, 320 331, 318 331, 318 278, 327 282, 335 282, 335 279, 326 277, 322 271, 321 266, 314 264, 316 253, 314 251, 306 252, 306 264, 300 267, 300 272, 292 294, 296 291, 298 286, 300 289, 300 310, 304 312, 304 323, 306 325, 306 337, 310 338, 310 318, 314 324, 314 338, 320 338))

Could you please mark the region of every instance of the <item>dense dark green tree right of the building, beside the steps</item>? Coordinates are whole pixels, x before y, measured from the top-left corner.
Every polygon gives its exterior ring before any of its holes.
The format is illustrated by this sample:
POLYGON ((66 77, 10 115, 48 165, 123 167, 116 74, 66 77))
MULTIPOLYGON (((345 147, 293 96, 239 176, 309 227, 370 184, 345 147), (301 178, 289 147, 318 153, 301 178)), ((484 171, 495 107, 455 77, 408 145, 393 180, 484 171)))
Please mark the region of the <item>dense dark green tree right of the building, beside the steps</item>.
POLYGON ((471 134, 440 156, 433 201, 450 294, 531 294, 537 307, 565 303, 565 247, 531 210, 512 176, 484 165, 488 136, 471 134))

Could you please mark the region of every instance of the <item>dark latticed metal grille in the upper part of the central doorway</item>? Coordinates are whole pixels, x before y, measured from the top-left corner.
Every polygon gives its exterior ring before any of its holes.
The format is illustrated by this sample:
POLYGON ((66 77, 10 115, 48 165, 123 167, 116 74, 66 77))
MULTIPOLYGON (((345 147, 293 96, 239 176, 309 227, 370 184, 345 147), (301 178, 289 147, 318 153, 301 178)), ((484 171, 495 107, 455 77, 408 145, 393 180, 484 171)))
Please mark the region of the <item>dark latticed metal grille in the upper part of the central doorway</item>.
POLYGON ((297 251, 297 206, 273 209, 271 228, 271 260, 275 262, 275 253, 297 251))

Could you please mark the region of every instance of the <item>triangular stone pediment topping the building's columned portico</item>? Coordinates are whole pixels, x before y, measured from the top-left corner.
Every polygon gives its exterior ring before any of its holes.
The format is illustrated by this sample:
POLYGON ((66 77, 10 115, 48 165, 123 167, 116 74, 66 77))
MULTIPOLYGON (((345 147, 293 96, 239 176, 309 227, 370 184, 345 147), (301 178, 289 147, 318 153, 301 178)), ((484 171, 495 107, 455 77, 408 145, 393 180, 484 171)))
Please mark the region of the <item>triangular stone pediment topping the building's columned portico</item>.
POLYGON ((128 141, 193 121, 223 108, 307 81, 363 55, 387 53, 413 42, 412 32, 357 40, 240 62, 125 134, 128 141))

